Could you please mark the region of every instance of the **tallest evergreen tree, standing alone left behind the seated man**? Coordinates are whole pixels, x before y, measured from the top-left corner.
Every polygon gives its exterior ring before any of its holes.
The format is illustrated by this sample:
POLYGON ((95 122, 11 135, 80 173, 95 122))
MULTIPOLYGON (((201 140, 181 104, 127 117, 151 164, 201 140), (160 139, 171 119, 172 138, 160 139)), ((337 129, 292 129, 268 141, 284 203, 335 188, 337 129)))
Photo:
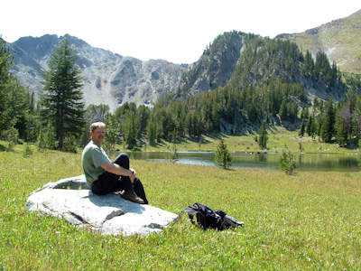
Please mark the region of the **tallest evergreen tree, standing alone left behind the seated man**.
POLYGON ((81 102, 81 77, 78 56, 65 36, 51 54, 49 70, 42 74, 44 94, 41 96, 41 114, 55 128, 59 149, 65 135, 81 135, 84 122, 84 104, 81 102))

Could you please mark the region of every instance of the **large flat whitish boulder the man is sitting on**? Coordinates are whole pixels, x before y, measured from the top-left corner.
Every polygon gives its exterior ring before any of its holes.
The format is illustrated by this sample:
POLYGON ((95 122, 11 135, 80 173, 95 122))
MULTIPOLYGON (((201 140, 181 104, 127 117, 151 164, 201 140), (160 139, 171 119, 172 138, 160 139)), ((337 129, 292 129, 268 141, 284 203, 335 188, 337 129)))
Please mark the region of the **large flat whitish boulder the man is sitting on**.
POLYGON ((32 192, 26 208, 68 220, 81 229, 125 236, 161 232, 178 219, 174 213, 126 201, 115 193, 94 194, 84 175, 45 184, 32 192))

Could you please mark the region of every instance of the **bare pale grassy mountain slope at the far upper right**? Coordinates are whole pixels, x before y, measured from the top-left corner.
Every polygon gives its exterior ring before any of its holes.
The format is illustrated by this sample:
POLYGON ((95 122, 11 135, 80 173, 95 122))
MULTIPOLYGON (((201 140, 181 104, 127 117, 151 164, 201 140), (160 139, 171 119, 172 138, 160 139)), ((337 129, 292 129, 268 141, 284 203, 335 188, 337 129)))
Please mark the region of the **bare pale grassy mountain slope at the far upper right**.
POLYGON ((361 10, 303 33, 280 34, 276 38, 296 42, 303 52, 309 50, 313 56, 324 51, 340 70, 361 74, 361 10))

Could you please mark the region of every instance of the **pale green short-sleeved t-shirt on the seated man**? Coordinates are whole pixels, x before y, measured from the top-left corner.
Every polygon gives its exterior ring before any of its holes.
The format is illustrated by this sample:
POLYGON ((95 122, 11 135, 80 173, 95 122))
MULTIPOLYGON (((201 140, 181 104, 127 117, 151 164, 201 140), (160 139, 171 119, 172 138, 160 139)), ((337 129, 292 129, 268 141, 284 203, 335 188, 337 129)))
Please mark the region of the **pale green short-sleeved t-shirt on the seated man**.
POLYGON ((111 163, 106 152, 91 140, 81 155, 81 164, 83 165, 85 178, 89 186, 91 186, 94 181, 97 181, 102 173, 106 172, 106 170, 100 166, 106 163, 111 163))

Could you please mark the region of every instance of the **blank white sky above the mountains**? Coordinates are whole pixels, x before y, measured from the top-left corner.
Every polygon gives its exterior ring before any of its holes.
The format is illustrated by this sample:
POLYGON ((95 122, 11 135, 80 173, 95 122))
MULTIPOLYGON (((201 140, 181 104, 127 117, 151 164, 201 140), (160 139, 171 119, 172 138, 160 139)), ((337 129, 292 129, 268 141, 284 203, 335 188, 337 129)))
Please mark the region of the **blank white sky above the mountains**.
POLYGON ((347 17, 359 0, 12 0, 3 1, 5 42, 44 34, 76 36, 93 47, 142 61, 198 61, 222 33, 273 38, 347 17))

